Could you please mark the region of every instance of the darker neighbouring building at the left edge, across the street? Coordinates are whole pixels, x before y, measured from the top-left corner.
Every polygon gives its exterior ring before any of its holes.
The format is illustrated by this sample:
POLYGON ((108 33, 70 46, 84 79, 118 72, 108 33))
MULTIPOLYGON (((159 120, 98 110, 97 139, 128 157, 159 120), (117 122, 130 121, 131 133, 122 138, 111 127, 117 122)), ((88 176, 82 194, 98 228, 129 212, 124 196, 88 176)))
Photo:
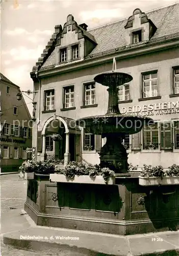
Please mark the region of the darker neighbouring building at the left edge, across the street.
POLYGON ((11 172, 31 158, 26 148, 32 146, 32 121, 23 97, 17 100, 20 88, 1 73, 0 77, 1 172, 11 172))

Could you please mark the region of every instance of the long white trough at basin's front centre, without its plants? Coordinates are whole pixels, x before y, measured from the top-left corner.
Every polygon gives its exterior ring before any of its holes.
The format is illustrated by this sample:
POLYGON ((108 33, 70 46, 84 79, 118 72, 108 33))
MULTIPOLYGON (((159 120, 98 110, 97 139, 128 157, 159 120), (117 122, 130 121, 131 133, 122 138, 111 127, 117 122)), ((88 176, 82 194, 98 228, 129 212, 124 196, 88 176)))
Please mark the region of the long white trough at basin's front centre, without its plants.
MULTIPOLYGON (((86 184, 106 184, 103 176, 97 175, 96 177, 90 177, 89 175, 74 176, 69 178, 64 174, 50 174, 49 177, 52 182, 67 182, 67 183, 86 183, 86 184)), ((115 184, 115 177, 110 177, 108 185, 115 184)))

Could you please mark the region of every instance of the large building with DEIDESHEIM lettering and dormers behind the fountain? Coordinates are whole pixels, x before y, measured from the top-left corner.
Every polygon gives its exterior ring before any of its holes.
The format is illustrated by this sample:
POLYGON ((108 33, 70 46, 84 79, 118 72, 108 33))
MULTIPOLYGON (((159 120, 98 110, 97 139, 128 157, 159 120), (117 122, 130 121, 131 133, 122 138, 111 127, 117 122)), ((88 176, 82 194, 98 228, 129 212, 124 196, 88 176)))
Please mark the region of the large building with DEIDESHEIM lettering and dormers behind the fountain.
POLYGON ((156 122, 152 128, 126 136, 129 163, 165 168, 178 164, 178 13, 178 3, 147 13, 135 9, 129 18, 89 31, 86 24, 78 25, 68 15, 63 28, 55 27, 31 72, 38 91, 34 99, 34 120, 38 122, 32 142, 37 159, 56 155, 65 162, 99 163, 100 136, 86 134, 72 120, 106 114, 107 88, 93 79, 112 71, 115 57, 117 71, 133 76, 119 88, 120 112, 147 115, 156 122), (62 141, 53 141, 53 133, 60 133, 62 141))

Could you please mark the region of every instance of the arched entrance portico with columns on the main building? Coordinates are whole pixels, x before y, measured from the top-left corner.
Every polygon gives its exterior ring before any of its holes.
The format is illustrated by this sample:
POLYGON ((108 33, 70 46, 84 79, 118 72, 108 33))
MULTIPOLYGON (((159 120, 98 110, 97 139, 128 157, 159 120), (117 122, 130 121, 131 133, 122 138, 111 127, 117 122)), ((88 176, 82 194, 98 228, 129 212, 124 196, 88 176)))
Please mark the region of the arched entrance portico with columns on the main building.
POLYGON ((55 155, 56 158, 63 159, 64 165, 70 160, 75 160, 75 155, 79 152, 75 152, 75 135, 81 136, 81 128, 76 125, 75 120, 68 117, 52 116, 46 120, 42 129, 42 153, 41 160, 44 160, 47 155, 55 155), (52 143, 52 148, 46 145, 47 137, 52 134, 60 134, 62 140, 59 141, 49 141, 52 143), (71 134, 73 136, 71 136, 71 134), (70 141, 70 138, 73 138, 70 141), (70 150, 73 148, 73 151, 70 150))

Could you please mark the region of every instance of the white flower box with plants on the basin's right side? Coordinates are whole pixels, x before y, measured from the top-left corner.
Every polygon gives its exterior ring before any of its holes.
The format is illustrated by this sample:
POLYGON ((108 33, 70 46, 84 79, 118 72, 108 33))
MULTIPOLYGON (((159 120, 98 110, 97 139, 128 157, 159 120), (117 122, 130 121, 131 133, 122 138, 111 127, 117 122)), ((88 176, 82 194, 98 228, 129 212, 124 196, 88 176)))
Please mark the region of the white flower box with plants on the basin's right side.
POLYGON ((179 184, 179 165, 173 164, 164 171, 161 165, 152 167, 144 164, 139 176, 139 184, 142 186, 179 184))

